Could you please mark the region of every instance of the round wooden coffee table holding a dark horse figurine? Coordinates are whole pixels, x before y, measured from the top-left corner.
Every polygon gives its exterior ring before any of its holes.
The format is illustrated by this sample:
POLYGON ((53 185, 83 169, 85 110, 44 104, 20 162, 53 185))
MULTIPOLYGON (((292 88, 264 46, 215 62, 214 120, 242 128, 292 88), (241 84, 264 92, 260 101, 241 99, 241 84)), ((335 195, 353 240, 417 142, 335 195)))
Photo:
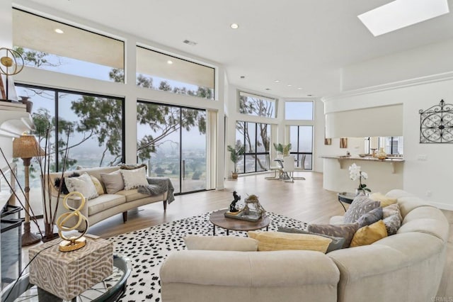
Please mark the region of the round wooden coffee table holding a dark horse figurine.
POLYGON ((219 211, 212 212, 210 215, 210 222, 212 223, 212 235, 215 235, 215 227, 224 228, 226 235, 229 235, 229 230, 259 230, 261 228, 269 229, 270 219, 265 214, 260 220, 253 222, 235 218, 228 218, 224 216, 224 213, 228 211, 224 208, 219 211))

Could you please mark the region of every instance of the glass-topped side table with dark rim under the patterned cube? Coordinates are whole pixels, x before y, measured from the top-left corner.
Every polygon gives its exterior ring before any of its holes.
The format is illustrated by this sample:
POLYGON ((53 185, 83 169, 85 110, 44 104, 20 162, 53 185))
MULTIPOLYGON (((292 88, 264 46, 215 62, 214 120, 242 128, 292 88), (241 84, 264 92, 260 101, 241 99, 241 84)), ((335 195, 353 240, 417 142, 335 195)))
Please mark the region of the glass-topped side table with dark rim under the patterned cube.
MULTIPOLYGON (((126 281, 132 272, 130 259, 120 255, 113 255, 113 274, 103 279, 100 283, 81 293, 72 299, 72 302, 113 302, 117 301, 126 291, 126 281)), ((38 301, 38 302, 62 302, 61 298, 39 289, 28 282, 28 274, 21 276, 16 285, 6 286, 2 293, 1 302, 13 301, 38 301)))

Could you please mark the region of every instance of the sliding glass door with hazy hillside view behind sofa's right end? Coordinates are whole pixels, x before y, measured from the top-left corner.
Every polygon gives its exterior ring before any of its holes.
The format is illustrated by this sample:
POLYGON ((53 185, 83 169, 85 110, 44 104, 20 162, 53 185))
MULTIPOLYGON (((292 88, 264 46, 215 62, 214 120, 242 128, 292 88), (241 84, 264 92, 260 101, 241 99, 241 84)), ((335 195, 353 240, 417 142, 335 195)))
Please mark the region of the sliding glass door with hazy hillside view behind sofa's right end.
POLYGON ((175 193, 206 189, 206 111, 137 104, 137 156, 150 177, 169 177, 175 193))

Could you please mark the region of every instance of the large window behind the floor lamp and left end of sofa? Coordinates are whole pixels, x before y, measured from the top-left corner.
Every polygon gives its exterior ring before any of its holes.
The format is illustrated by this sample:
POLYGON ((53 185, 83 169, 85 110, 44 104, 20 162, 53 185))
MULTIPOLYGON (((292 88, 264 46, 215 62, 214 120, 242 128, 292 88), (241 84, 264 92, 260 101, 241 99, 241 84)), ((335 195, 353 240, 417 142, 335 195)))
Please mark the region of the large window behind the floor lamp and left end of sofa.
MULTIPOLYGON (((62 170, 66 147, 69 147, 66 170, 124 162, 122 99, 21 84, 16 84, 16 89, 18 95, 33 101, 31 114, 36 127, 33 134, 42 147, 49 129, 51 172, 62 170)), ((30 201, 38 198, 35 202, 40 204, 40 173, 35 161, 30 167, 30 201)), ((18 173, 22 174, 22 160, 17 164, 18 173)), ((19 175, 18 179, 22 181, 25 177, 19 175)))

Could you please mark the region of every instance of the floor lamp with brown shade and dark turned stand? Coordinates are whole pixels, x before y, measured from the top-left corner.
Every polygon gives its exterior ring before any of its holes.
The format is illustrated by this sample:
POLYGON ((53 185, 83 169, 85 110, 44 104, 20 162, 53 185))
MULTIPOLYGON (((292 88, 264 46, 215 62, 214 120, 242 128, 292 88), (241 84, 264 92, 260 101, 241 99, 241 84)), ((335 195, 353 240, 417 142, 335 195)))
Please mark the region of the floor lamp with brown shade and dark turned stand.
POLYGON ((41 237, 30 232, 30 162, 33 157, 44 155, 34 135, 21 135, 13 140, 13 157, 23 160, 25 170, 25 222, 23 223, 22 246, 34 245, 41 237))

